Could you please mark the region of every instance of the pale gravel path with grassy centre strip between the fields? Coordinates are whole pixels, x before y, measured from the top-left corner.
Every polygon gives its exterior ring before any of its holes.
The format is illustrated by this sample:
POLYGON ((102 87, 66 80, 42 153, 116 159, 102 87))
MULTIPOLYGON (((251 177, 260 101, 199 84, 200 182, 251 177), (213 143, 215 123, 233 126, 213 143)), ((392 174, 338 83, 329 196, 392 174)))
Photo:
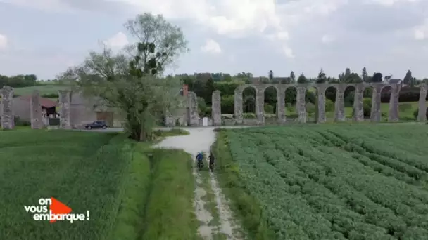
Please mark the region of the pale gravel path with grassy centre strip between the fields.
MULTIPOLYGON (((208 156, 210 147, 215 142, 214 127, 204 128, 184 128, 189 131, 189 135, 181 135, 165 138, 155 147, 184 149, 195 159, 200 151, 208 156)), ((193 174, 196 180, 194 207, 196 218, 201 222, 199 234, 203 239, 243 239, 241 227, 232 218, 232 211, 228 206, 228 201, 222 194, 215 178, 215 173, 209 173, 206 181, 210 184, 204 184, 203 174, 199 173, 194 164, 193 174), (212 193, 213 199, 209 200, 208 194, 212 193), (215 208, 210 205, 215 204, 215 208), (216 217, 218 216, 218 217, 216 217), (218 218, 215 220, 215 218, 218 218)), ((205 164, 205 167, 208 164, 205 164)), ((206 182, 205 182, 206 183, 206 182)))

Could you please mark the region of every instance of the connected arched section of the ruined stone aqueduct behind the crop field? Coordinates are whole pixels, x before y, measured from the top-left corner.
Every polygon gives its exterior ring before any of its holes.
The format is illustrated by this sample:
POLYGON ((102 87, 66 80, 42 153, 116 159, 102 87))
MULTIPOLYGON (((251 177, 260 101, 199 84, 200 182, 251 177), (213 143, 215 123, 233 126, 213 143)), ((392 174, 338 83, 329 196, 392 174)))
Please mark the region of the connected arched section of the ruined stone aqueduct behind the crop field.
MULTIPOLYGON (((243 124, 243 95, 245 88, 254 88, 256 90, 256 124, 265 124, 264 116, 264 94, 265 89, 273 86, 277 90, 277 122, 278 124, 284 124, 287 122, 284 110, 284 98, 285 91, 289 87, 297 89, 296 97, 296 109, 298 112, 298 122, 306 123, 308 115, 306 113, 306 91, 308 88, 313 87, 317 89, 317 104, 316 104, 316 121, 319 123, 326 121, 325 116, 325 91, 329 87, 336 88, 336 101, 334 106, 334 120, 335 121, 346 121, 345 116, 345 102, 344 92, 349 86, 355 88, 354 96, 354 121, 363 121, 363 91, 365 88, 372 88, 372 112, 370 116, 371 121, 380 121, 382 114, 380 112, 381 106, 381 92, 382 89, 389 86, 392 88, 391 99, 389 103, 389 121, 398 121, 398 95, 401 90, 400 84, 387 84, 387 83, 362 83, 362 84, 244 84, 239 86, 234 91, 234 118, 237 124, 243 124)), ((420 97, 420 108, 425 105, 425 97, 427 94, 427 85, 421 86, 421 97, 420 97), (423 101, 422 101, 423 100, 423 101)), ((426 109, 425 109, 426 110, 426 109)), ((420 119, 424 119, 424 109, 420 111, 420 119)), ((422 121, 422 120, 419 120, 422 121)))

